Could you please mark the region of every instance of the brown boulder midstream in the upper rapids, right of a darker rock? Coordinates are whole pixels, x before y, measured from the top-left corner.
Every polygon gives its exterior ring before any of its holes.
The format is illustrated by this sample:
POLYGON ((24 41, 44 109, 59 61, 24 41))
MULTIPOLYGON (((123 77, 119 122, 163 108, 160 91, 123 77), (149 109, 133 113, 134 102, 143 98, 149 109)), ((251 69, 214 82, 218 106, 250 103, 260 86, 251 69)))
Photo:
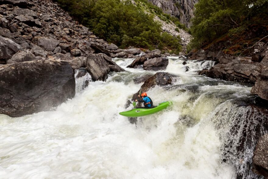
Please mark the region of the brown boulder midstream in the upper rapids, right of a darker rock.
POLYGON ((143 64, 144 70, 165 70, 168 66, 168 58, 158 57, 146 60, 143 64))

